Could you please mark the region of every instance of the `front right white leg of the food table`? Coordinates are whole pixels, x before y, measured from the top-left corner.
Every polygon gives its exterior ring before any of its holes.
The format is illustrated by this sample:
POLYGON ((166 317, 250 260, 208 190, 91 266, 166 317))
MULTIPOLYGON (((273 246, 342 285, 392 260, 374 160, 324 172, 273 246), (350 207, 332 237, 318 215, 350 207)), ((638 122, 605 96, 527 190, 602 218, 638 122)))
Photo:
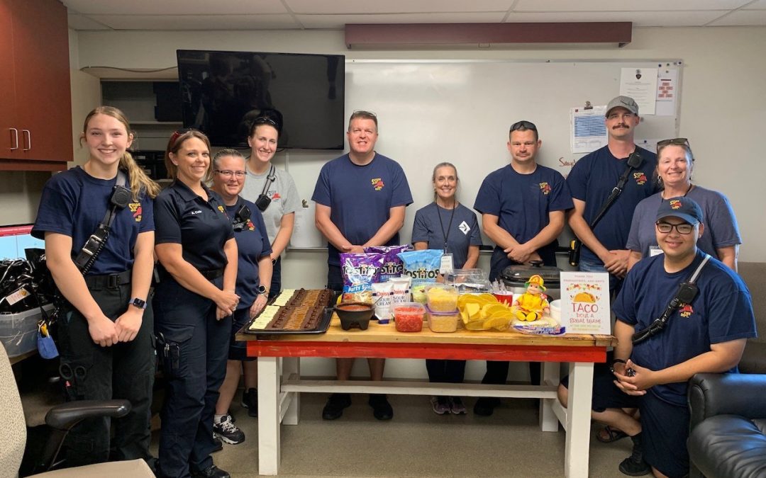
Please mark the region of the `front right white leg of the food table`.
POLYGON ((564 476, 587 478, 591 448, 593 363, 569 364, 569 403, 564 452, 564 476))

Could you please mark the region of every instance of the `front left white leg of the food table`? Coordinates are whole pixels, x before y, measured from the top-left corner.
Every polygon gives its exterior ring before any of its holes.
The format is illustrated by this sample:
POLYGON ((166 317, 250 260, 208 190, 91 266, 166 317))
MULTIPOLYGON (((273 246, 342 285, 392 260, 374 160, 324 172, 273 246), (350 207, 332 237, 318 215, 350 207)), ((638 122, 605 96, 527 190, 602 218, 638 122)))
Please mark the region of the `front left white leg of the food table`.
POLYGON ((258 357, 258 473, 280 470, 280 374, 277 357, 258 357))

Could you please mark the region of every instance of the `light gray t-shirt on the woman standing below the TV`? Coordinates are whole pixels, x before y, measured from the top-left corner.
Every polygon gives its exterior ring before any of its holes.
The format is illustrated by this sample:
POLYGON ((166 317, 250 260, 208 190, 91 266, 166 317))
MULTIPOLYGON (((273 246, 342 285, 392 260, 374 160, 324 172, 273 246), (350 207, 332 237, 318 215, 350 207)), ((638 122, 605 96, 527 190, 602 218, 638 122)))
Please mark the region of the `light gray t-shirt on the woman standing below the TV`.
MULTIPOLYGON (((250 167, 247 167, 247 179, 244 181, 240 195, 246 200, 255 202, 260 192, 264 190, 268 174, 269 170, 266 170, 264 174, 254 174, 250 171, 250 167)), ((274 242, 277 232, 280 232, 282 216, 294 213, 300 207, 300 197, 293 177, 277 167, 274 168, 274 176, 273 182, 269 184, 266 191, 267 196, 271 198, 271 203, 262 213, 270 243, 274 242)))

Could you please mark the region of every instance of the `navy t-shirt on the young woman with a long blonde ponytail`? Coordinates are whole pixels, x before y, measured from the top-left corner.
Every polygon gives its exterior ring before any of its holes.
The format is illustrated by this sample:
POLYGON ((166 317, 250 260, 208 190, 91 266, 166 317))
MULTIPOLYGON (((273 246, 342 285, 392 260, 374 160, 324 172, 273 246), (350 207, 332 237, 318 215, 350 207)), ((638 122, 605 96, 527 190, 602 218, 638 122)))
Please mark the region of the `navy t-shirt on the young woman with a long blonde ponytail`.
MULTIPOLYGON (((32 236, 45 238, 45 232, 57 232, 72 238, 72 257, 77 257, 85 242, 96 232, 110 206, 117 178, 99 179, 81 167, 56 174, 43 188, 38 217, 32 236)), ((129 187, 130 179, 126 179, 129 187)), ((133 248, 139 233, 154 230, 154 204, 139 194, 130 198, 128 206, 119 210, 106 244, 87 275, 119 274, 133 267, 133 248)))

